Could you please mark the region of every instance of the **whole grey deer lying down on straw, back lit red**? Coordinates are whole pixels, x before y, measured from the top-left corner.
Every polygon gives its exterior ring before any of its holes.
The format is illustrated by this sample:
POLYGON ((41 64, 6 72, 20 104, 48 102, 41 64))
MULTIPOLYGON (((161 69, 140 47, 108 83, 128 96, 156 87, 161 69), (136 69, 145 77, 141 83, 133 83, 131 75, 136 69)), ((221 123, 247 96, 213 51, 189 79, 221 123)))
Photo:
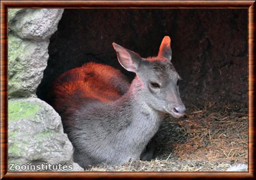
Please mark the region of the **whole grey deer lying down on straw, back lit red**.
POLYGON ((121 66, 136 73, 131 85, 119 70, 90 62, 63 73, 53 86, 53 106, 83 168, 148 159, 144 149, 164 116, 178 118, 185 111, 168 36, 157 57, 113 46, 121 66))

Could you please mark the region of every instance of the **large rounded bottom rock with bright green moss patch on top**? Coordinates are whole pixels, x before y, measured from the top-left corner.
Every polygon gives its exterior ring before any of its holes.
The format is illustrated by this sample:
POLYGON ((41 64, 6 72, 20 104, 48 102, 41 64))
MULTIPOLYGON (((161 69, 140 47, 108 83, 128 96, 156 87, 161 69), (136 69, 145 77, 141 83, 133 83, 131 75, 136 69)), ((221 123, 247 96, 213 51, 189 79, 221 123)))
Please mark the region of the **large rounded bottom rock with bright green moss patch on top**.
POLYGON ((73 146, 63 133, 60 116, 38 98, 8 101, 8 163, 73 165, 73 146))

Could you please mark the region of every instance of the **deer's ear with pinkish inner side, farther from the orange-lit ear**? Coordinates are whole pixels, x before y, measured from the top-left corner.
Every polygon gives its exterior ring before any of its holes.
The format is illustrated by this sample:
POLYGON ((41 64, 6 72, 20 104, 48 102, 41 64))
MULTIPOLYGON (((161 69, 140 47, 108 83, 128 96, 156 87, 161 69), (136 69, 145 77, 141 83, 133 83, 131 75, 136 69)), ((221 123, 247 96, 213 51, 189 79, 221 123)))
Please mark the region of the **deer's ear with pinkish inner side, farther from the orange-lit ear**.
POLYGON ((125 49, 114 42, 113 47, 116 50, 117 58, 121 66, 127 71, 137 72, 141 59, 140 56, 132 50, 125 49))

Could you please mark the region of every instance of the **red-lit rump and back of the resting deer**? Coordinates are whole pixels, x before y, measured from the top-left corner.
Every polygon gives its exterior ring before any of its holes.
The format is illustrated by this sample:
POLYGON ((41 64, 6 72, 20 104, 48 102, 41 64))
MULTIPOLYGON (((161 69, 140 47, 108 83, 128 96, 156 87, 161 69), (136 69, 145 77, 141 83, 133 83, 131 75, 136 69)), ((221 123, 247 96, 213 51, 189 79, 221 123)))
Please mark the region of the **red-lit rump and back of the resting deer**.
POLYGON ((121 72, 111 66, 87 63, 59 76, 53 84, 53 107, 57 112, 77 109, 84 100, 108 102, 129 88, 121 72))

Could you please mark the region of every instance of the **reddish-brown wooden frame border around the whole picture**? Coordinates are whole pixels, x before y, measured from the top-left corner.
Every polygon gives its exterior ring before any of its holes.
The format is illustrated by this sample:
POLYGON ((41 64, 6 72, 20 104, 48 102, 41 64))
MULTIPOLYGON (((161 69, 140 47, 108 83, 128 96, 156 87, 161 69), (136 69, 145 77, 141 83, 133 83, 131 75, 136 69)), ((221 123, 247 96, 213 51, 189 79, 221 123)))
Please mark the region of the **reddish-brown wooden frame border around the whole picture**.
POLYGON ((255 1, 1 1, 1 179, 8 178, 255 178, 254 171, 254 34, 255 1), (244 8, 248 10, 248 172, 8 172, 8 8, 244 8))

